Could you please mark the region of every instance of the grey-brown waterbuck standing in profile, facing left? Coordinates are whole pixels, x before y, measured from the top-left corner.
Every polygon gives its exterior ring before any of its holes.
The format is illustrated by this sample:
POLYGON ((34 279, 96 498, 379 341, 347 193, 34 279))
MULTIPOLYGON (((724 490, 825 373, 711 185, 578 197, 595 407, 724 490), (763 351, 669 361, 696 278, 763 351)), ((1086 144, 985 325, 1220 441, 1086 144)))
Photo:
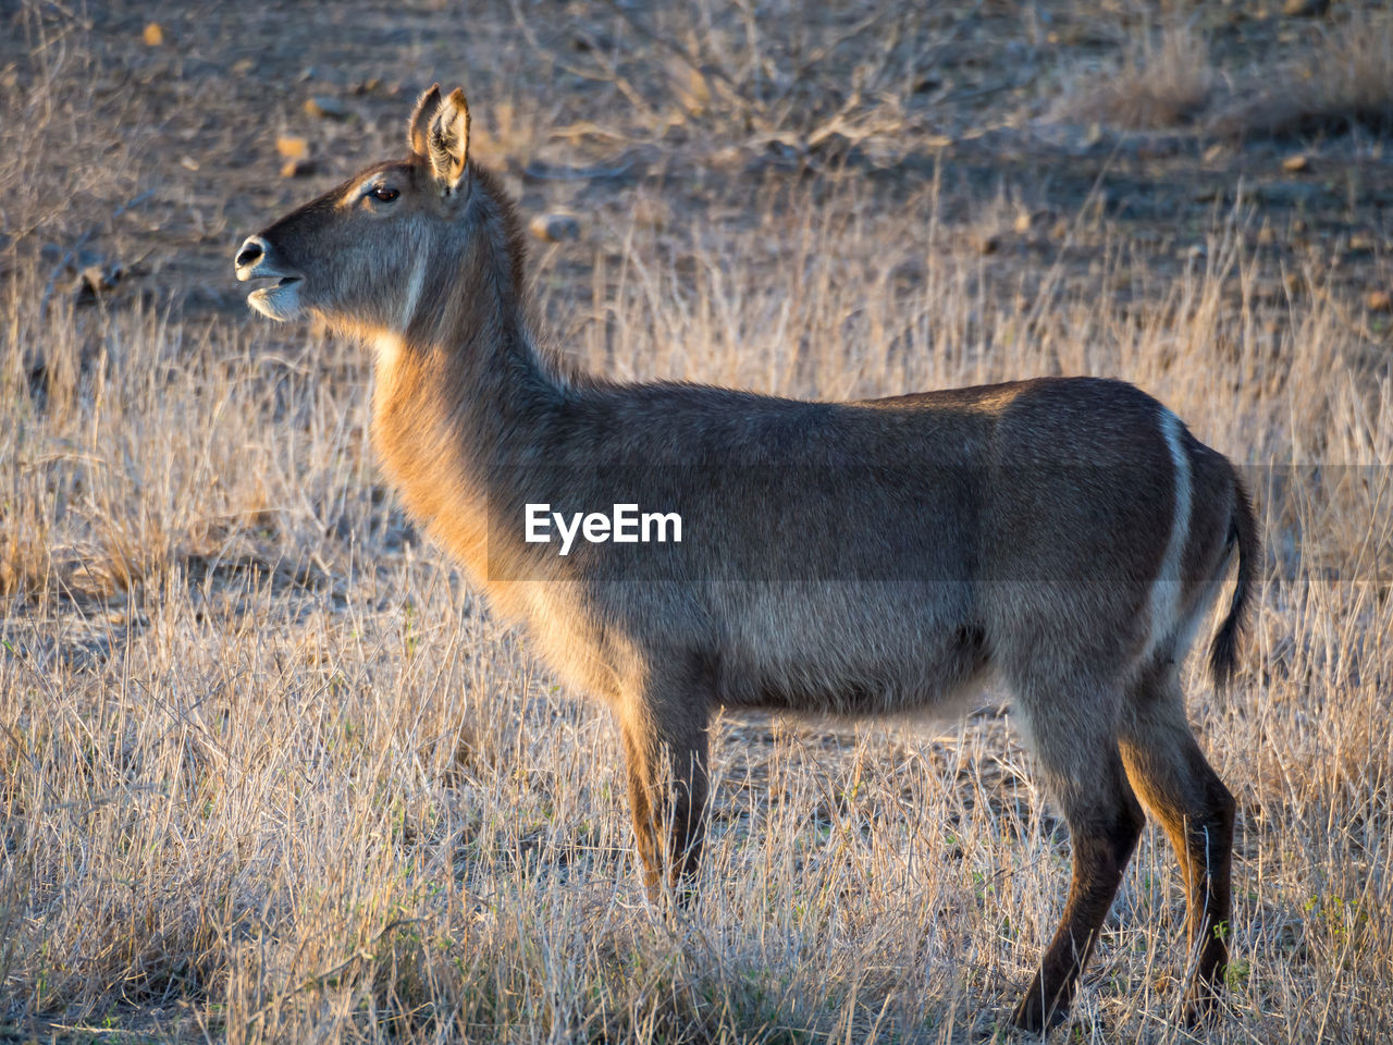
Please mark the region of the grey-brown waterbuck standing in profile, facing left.
POLYGON ((694 888, 713 709, 943 712, 993 673, 1073 844, 1015 1023, 1068 1006, 1142 803, 1184 871, 1187 1014, 1204 1017, 1227 960, 1234 801, 1180 669, 1236 553, 1209 658, 1230 681, 1255 589, 1229 461, 1117 380, 804 403, 570 373, 534 339, 518 220, 469 159, 464 96, 428 91, 408 145, 248 238, 237 277, 272 280, 249 297, 272 319, 375 346, 372 438, 408 509, 618 719, 649 892, 694 888), (586 534, 563 556, 528 539, 553 509, 684 528, 586 534))

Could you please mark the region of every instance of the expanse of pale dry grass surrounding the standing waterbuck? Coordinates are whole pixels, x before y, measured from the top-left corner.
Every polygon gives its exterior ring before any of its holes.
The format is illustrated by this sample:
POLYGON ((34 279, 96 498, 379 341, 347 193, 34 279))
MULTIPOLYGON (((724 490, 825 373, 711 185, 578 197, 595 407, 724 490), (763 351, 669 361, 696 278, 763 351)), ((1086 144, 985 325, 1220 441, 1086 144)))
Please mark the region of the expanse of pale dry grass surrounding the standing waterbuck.
MULTIPOLYGON (((0 205, 141 191, 123 162, 56 174, 111 128, 63 86, 92 61, 77 43, 6 98, 32 145, 0 155, 0 205)), ((1273 308, 1243 213, 1215 216, 1178 276, 1080 217, 1082 280, 957 252, 972 226, 933 184, 894 206, 847 178, 775 184, 748 220, 645 213, 596 219, 584 279, 554 251, 535 265, 588 365, 826 397, 1123 375, 1252 465, 1270 550, 1247 669, 1222 706, 1191 673, 1241 805, 1231 1005, 1209 1039, 1376 1041, 1393 1023, 1386 341, 1319 274, 1273 308), (1102 290, 1120 284, 1131 304, 1102 290)), ((703 899, 664 920, 634 872, 609 722, 376 485, 365 355, 241 315, 77 307, 21 247, 0 300, 0 1024, 1002 1034, 1068 864, 1009 719, 946 738, 723 719, 703 899)), ((1181 918, 1148 830, 1071 1039, 1188 1039, 1181 918)))

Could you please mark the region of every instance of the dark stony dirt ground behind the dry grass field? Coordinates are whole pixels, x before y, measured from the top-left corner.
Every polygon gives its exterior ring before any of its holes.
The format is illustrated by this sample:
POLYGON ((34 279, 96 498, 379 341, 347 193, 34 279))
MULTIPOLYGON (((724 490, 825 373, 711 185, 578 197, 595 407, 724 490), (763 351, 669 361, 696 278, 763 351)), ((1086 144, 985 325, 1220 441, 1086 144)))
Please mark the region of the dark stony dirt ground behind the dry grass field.
MULTIPOLYGON (((1099 251, 1126 245, 1174 276, 1205 256, 1215 213, 1230 208, 1262 247, 1255 293, 1277 305, 1311 277, 1351 302, 1390 290, 1393 164, 1371 128, 1351 134, 1336 120, 1273 141, 1194 124, 1126 131, 1075 121, 1067 106, 1060 114, 1061 98, 1167 24, 1165 6, 911 7, 798 11, 787 40, 776 32, 783 8, 755 8, 769 54, 734 84, 720 60, 734 70, 737 56, 684 39, 702 20, 662 7, 117 3, 78 15, 25 4, 0 42, 11 106, 21 84, 56 77, 45 103, 100 125, 100 155, 89 153, 96 144, 26 139, 29 114, 11 109, 8 145, 31 153, 39 184, 28 188, 40 206, 7 208, 6 234, 57 261, 81 242, 89 259, 117 266, 109 304, 143 295, 238 312, 228 258, 241 238, 398 150, 401 114, 439 81, 476 99, 476 152, 507 171, 525 217, 579 219, 579 238, 557 251, 577 286, 613 247, 605 227, 657 209, 655 199, 670 226, 740 223, 756 220, 756 201, 786 183, 822 191, 851 180, 865 206, 886 210, 933 187, 951 245, 1029 290, 1056 272, 1063 286, 1126 300, 1134 288, 1089 283, 1099 251), (63 57, 77 40, 81 57, 63 57), (333 116, 306 110, 315 99, 333 116), (306 177, 281 176, 280 138, 304 142, 306 177)), ((1205 33, 1227 78, 1280 84, 1305 75, 1298 57, 1360 6, 1337 4, 1330 20, 1286 18, 1279 7, 1195 4, 1184 21, 1205 33)), ((708 17, 727 35, 741 25, 737 7, 708 17)), ((1351 322, 1386 330, 1358 309, 1351 322)))

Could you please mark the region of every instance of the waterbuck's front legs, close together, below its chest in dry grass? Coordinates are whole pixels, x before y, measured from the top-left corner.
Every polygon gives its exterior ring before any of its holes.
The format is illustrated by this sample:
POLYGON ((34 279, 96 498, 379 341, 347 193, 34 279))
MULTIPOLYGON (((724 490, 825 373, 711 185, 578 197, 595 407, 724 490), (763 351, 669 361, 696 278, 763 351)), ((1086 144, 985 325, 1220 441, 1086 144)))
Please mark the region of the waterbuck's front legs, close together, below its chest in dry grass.
POLYGON ((657 901, 666 871, 667 885, 685 900, 701 862, 705 830, 705 706, 655 708, 644 702, 624 716, 623 732, 644 888, 657 901))

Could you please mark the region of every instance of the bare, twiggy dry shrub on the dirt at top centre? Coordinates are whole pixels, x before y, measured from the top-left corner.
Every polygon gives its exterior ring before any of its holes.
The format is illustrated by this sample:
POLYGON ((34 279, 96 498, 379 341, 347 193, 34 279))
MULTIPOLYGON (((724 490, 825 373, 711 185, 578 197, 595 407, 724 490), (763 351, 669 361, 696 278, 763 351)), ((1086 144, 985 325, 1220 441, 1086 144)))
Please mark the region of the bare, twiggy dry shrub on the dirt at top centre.
POLYGON ((953 28, 933 24, 942 15, 897 0, 600 3, 566 18, 545 0, 511 0, 511 10, 536 60, 613 92, 607 120, 564 134, 613 138, 618 110, 625 135, 698 150, 903 150, 917 85, 956 43, 953 28))

